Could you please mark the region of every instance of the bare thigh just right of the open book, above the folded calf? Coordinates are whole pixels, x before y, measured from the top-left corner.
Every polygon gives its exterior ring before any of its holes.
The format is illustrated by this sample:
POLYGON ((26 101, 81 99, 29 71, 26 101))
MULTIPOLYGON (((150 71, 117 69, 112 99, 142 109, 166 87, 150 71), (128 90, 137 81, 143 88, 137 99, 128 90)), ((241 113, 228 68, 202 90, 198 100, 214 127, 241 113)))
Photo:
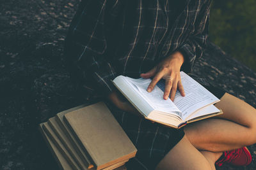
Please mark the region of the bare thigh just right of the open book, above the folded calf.
POLYGON ((231 94, 225 93, 215 106, 223 111, 223 114, 218 116, 219 118, 224 118, 246 127, 251 127, 255 124, 255 108, 231 94))

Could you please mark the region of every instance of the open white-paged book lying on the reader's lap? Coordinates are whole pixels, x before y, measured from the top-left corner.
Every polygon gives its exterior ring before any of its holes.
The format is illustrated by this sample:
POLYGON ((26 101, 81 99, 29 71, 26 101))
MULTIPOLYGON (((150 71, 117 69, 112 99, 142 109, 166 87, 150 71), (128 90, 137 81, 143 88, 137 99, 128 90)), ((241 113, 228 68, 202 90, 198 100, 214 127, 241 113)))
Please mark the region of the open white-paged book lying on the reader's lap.
POLYGON ((150 79, 133 79, 118 76, 114 85, 131 104, 147 119, 170 127, 180 128, 190 122, 222 114, 213 104, 220 101, 188 74, 180 72, 185 97, 179 90, 172 102, 163 99, 164 80, 157 83, 152 92, 147 92, 150 79))

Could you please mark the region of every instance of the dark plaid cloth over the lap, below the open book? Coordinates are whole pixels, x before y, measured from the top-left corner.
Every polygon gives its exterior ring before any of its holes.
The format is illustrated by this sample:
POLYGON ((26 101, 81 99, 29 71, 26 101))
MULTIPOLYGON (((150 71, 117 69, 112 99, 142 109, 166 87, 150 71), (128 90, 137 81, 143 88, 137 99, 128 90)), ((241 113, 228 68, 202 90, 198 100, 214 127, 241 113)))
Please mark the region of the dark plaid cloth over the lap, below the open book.
POLYGON ((136 146, 136 159, 147 169, 155 169, 157 164, 184 136, 183 128, 174 129, 152 123, 145 118, 115 108, 107 103, 111 112, 122 126, 127 136, 136 146))

